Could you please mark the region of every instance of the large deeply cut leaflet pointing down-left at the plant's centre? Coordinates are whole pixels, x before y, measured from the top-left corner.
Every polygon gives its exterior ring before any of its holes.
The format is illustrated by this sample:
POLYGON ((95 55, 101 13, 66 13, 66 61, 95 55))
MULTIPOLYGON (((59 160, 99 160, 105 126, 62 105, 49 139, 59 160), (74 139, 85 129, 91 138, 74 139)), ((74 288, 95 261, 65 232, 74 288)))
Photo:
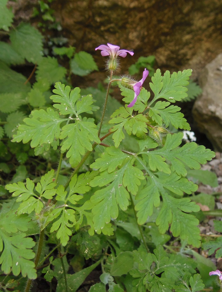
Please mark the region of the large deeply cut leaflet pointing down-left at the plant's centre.
POLYGON ((100 176, 94 178, 90 185, 92 187, 102 187, 110 183, 105 188, 97 190, 90 198, 94 205, 92 208, 93 222, 95 230, 102 229, 105 223, 109 223, 112 218, 118 216, 118 205, 125 211, 129 205, 129 192, 136 194, 140 180, 144 179, 143 172, 131 165, 131 158, 127 158, 125 165, 121 169, 112 173, 103 171, 100 176), (127 188, 127 190, 126 190, 127 188))

